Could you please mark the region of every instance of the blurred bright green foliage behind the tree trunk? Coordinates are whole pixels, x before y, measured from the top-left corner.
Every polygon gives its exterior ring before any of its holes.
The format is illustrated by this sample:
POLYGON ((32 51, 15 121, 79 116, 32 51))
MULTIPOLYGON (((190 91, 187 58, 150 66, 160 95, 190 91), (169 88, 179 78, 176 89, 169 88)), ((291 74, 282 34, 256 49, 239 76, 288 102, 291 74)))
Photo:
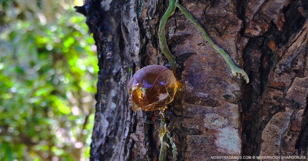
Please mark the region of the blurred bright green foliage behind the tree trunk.
POLYGON ((82 0, 0 0, 0 160, 85 161, 96 47, 82 0))

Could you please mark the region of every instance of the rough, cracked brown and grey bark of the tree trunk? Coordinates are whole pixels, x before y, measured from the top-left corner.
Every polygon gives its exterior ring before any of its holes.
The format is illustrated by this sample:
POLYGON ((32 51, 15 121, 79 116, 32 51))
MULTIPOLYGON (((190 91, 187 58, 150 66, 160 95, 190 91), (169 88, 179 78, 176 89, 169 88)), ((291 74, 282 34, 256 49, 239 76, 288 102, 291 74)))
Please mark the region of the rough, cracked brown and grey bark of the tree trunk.
MULTIPOLYGON (((179 88, 167 115, 177 155, 173 159, 169 148, 166 160, 307 156, 308 2, 180 3, 246 71, 250 82, 234 77, 177 9, 166 25, 169 48, 180 64, 179 88)), ((132 111, 126 85, 140 68, 167 63, 157 38, 167 7, 167 0, 86 0, 79 8, 99 59, 91 161, 158 160, 158 111, 132 111)))

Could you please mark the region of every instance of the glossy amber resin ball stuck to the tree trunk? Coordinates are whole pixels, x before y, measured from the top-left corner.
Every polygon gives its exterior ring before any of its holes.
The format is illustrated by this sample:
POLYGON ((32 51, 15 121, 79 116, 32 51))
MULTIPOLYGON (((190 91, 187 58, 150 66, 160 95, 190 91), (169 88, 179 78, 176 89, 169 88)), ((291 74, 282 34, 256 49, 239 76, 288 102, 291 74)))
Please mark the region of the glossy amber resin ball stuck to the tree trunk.
POLYGON ((127 85, 129 105, 134 111, 162 110, 172 102, 176 87, 171 70, 160 65, 145 66, 127 85))

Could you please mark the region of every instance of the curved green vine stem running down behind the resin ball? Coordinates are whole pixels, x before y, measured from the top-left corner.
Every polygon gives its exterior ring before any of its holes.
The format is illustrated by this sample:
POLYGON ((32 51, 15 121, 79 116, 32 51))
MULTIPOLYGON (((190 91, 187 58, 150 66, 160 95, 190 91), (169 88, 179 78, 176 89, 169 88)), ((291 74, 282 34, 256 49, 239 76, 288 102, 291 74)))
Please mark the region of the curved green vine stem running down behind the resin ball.
POLYGON ((167 45, 166 34, 165 34, 165 25, 166 25, 167 19, 171 15, 174 14, 174 10, 176 8, 175 7, 175 1, 176 0, 169 0, 168 9, 166 10, 165 14, 161 18, 160 23, 159 23, 159 29, 158 29, 158 38, 159 38, 160 49, 164 53, 164 55, 167 57, 167 59, 169 61, 169 65, 170 65, 173 73, 176 72, 177 64, 176 64, 175 57, 173 56, 173 54, 171 54, 171 52, 168 48, 168 45, 167 45))

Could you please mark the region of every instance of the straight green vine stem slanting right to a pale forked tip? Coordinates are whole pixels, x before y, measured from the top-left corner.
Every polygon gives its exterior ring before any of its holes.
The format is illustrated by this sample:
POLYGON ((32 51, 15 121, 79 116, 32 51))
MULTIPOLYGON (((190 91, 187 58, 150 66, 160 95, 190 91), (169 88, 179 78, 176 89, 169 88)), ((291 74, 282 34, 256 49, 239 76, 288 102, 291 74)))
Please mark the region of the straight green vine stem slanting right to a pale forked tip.
POLYGON ((231 68, 232 74, 234 76, 236 76, 237 73, 241 74, 243 79, 245 79, 246 83, 248 83, 249 82, 249 78, 248 78, 248 75, 246 74, 246 72, 244 70, 242 70, 241 68, 237 67, 234 64, 234 62, 231 60, 229 55, 223 49, 221 49, 219 46, 217 46, 213 42, 213 40, 209 37, 209 35, 205 32, 205 30, 202 28, 202 26, 199 24, 199 22, 197 22, 197 20, 193 17, 193 15, 190 14, 189 11, 186 8, 184 8, 182 5, 180 5, 178 0, 176 0, 176 4, 175 5, 201 31, 201 33, 203 34, 205 40, 208 41, 219 54, 221 54, 221 56, 225 59, 225 61, 227 62, 227 64, 231 68))

